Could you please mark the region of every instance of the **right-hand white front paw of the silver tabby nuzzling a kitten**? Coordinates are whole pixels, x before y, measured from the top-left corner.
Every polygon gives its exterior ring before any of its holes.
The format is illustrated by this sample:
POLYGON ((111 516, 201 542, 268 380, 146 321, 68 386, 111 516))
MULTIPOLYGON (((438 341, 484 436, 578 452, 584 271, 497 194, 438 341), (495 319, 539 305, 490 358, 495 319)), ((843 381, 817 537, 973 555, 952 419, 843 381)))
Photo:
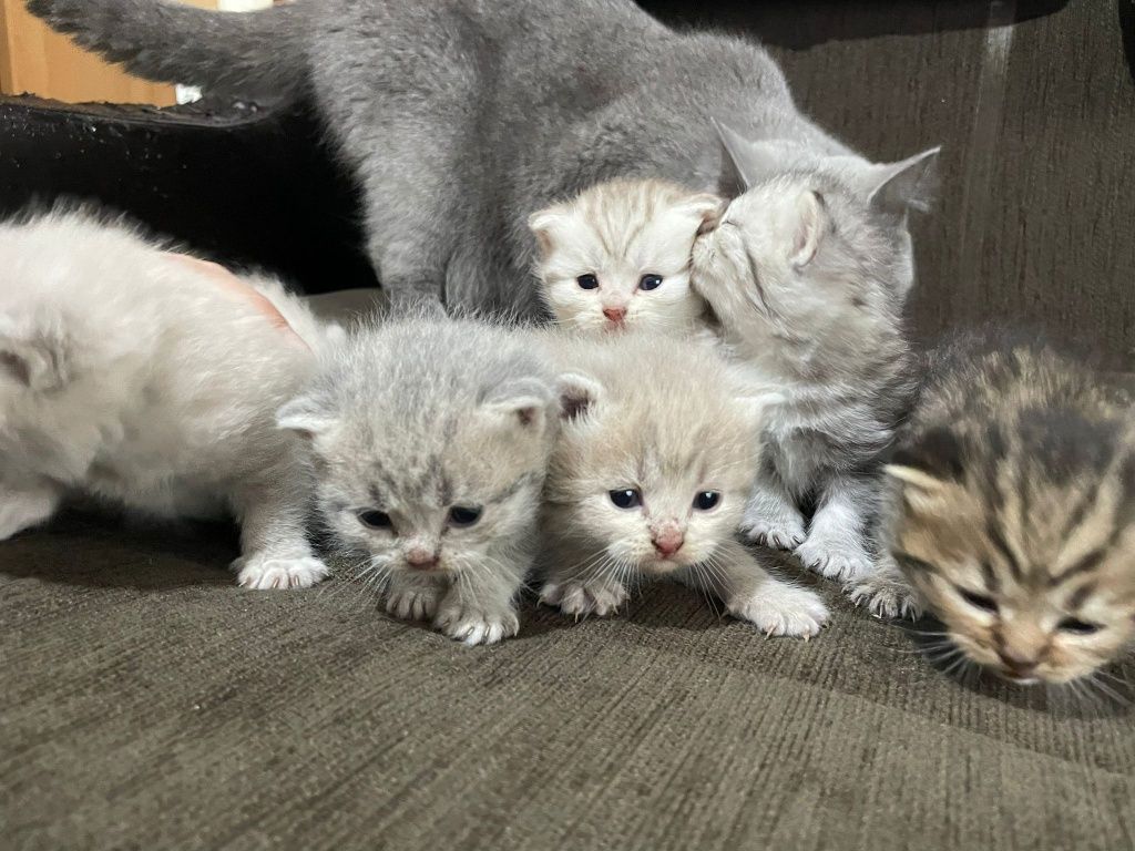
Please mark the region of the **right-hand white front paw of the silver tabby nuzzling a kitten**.
POLYGON ((854 582, 872 570, 866 549, 866 515, 878 500, 878 481, 838 474, 823 487, 807 540, 796 555, 829 579, 854 582))

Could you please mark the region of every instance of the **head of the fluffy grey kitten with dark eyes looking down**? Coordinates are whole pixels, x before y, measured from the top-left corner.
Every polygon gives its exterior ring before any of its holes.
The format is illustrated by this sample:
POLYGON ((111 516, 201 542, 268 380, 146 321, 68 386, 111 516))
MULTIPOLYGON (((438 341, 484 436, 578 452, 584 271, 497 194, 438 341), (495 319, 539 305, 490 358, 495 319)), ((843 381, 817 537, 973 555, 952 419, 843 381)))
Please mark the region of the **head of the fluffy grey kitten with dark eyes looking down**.
POLYGON ((323 524, 380 575, 493 570, 536 522, 556 422, 552 382, 538 371, 499 379, 516 368, 507 352, 478 356, 448 334, 446 363, 400 366, 398 347, 426 337, 387 337, 385 357, 350 361, 385 387, 350 387, 340 372, 280 413, 309 438, 323 524))

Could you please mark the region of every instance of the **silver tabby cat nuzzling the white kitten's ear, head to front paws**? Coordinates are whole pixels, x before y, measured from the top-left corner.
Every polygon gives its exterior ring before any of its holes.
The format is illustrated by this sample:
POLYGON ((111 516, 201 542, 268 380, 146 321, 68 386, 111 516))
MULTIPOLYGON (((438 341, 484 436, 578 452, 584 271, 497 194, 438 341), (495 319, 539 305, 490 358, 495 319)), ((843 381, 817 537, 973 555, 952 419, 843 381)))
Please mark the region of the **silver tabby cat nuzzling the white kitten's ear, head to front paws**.
POLYGON ((936 151, 864 168, 764 148, 749 146, 753 187, 695 243, 691 280, 745 371, 784 396, 765 414, 745 531, 851 581, 872 570, 880 457, 909 393, 905 221, 936 151))

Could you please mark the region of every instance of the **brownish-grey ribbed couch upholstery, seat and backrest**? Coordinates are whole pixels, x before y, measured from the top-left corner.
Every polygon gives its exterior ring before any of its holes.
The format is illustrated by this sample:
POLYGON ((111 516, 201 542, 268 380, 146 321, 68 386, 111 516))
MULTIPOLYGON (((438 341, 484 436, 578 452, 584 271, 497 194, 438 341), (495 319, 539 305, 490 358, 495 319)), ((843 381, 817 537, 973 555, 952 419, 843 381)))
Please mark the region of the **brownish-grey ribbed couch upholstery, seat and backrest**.
MULTIPOLYGON (((716 22, 771 19, 743 6, 716 22)), ((824 6, 784 12, 800 100, 880 158, 947 145, 916 328, 1033 320, 1129 366, 1130 3, 824 6)), ((241 591, 235 555, 94 514, 0 545, 0 848, 1135 848, 1129 706, 959 683, 829 585, 807 643, 657 587, 469 650, 346 583, 241 591)))

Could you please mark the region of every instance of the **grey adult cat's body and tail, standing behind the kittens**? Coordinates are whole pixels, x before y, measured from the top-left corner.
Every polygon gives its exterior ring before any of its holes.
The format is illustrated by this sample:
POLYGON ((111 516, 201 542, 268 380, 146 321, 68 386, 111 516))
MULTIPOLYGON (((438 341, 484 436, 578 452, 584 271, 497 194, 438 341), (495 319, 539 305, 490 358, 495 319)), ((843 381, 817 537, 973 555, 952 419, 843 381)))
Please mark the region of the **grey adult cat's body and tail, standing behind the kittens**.
POLYGON ((867 165, 800 113, 759 45, 673 32, 631 0, 28 8, 150 79, 310 96, 358 174, 369 253, 396 300, 543 314, 528 217, 615 177, 734 191, 748 163, 724 155, 714 117, 867 165))

